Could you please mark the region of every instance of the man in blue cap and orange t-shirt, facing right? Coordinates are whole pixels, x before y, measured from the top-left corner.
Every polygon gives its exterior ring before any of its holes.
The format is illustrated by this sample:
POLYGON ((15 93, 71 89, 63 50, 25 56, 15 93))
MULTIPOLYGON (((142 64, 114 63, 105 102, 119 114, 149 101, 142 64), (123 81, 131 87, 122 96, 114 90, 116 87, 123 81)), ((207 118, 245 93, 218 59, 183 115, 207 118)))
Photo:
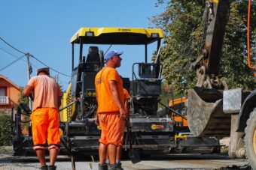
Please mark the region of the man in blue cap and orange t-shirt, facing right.
POLYGON ((117 146, 123 145, 124 106, 123 81, 115 68, 120 67, 123 52, 110 51, 105 56, 106 67, 96 74, 97 116, 102 133, 99 139, 99 170, 117 169, 117 146), (110 166, 105 163, 109 155, 110 166))

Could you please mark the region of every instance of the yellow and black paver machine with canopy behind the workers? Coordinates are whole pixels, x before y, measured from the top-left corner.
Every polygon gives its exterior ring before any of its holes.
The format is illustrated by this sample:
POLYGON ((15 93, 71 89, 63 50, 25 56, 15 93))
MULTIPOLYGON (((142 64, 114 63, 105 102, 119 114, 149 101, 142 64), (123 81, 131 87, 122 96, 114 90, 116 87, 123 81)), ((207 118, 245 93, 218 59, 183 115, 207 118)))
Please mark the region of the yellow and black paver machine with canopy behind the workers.
MULTIPOLYGON (((72 37, 72 80, 64 95, 64 109, 60 115, 62 121, 62 144, 72 155, 72 165, 77 156, 90 156, 98 153, 100 127, 95 123, 96 91, 94 79, 96 73, 104 67, 103 56, 112 46, 140 46, 145 55, 144 62, 131 64, 127 71, 132 79, 123 75, 123 86, 130 91, 130 139, 125 132, 123 150, 130 148, 144 157, 151 154, 181 152, 190 143, 175 140, 175 121, 169 112, 158 112, 161 91, 160 41, 163 31, 153 28, 80 28, 72 37), (93 44, 93 45, 92 45, 93 44), (148 46, 155 45, 154 61, 148 62, 148 46), (75 53, 78 47, 78 53, 75 53), (75 67, 75 55, 78 64, 75 67), (181 142, 181 143, 179 143, 181 142)), ((139 50, 136 47, 136 50, 139 50)), ((123 58, 129 58, 125 52, 123 58)), ((136 51, 136 54, 139 54, 136 51)), ((134 56, 139 58, 139 56, 134 56)), ((126 67, 122 65, 121 67, 126 67)), ((166 104, 168 108, 168 104, 166 104)), ((172 109, 172 108, 169 108, 172 109)), ((173 110, 173 109, 172 109, 173 110)), ((173 110, 173 112, 176 112, 173 110)), ((176 112, 179 114, 178 112, 176 112)), ((182 116, 182 115, 181 115, 182 116)), ((212 148, 218 145, 216 139, 201 140, 203 146, 212 148)), ((194 142, 198 145, 200 142, 194 142)), ((217 146, 219 147, 219 145, 217 146)), ((183 150, 184 151, 184 150, 183 150)), ((125 152, 123 152, 125 153, 125 152)))

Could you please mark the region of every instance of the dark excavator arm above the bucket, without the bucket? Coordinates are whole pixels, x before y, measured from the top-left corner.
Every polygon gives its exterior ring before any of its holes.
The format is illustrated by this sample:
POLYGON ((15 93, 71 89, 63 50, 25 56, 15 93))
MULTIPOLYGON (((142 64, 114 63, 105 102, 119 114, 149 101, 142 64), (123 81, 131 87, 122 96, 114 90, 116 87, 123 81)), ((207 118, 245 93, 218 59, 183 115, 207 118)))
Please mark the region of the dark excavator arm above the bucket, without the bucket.
POLYGON ((201 54, 192 67, 197 70, 197 86, 206 88, 227 88, 219 85, 219 62, 222 55, 224 29, 229 13, 227 0, 207 0, 203 13, 203 42, 201 54), (214 75, 215 77, 209 77, 214 75), (216 82, 217 81, 217 82, 216 82))

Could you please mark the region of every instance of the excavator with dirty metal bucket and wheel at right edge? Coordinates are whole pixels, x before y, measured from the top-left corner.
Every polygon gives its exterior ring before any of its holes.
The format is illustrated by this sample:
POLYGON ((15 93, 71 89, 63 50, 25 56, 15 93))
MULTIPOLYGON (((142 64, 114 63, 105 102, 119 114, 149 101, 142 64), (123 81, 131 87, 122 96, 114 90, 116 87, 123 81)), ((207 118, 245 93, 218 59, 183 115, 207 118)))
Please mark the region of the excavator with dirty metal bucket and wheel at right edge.
MULTIPOLYGON (((195 136, 230 136, 230 157, 246 157, 256 169, 256 90, 228 89, 218 77, 229 3, 206 1, 204 46, 193 64, 197 85, 187 94, 187 123, 195 136)), ((250 10, 248 0, 248 67, 255 71, 250 63, 250 10)))

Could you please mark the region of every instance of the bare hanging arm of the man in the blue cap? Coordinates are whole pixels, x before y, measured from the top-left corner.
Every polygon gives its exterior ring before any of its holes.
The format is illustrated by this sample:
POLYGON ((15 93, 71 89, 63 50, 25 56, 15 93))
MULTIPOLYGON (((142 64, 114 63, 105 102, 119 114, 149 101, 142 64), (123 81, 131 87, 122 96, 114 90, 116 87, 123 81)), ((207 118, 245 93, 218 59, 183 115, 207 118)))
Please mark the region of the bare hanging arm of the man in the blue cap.
POLYGON ((117 82, 115 81, 108 81, 108 84, 110 86, 111 95, 114 99, 114 102, 117 104, 120 110, 120 116, 123 119, 126 119, 126 109, 124 108, 123 104, 120 101, 119 94, 117 91, 117 82))

